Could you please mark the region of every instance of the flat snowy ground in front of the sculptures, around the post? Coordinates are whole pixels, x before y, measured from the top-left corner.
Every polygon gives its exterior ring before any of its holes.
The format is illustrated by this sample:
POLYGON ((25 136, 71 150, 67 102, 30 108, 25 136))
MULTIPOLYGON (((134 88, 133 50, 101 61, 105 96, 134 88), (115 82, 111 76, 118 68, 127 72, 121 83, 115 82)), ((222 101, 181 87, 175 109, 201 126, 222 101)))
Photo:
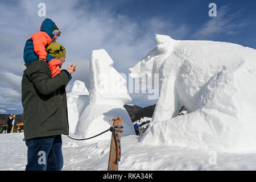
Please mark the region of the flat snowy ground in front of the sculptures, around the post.
MULTIPOLYGON (((119 170, 256 170, 256 152, 220 153, 170 146, 145 146, 141 136, 122 137, 119 170), (216 158, 215 158, 216 157, 216 158)), ((27 148, 23 133, 0 134, 0 170, 24 170, 27 148)), ((63 170, 106 170, 110 140, 75 141, 63 135, 63 170)))

